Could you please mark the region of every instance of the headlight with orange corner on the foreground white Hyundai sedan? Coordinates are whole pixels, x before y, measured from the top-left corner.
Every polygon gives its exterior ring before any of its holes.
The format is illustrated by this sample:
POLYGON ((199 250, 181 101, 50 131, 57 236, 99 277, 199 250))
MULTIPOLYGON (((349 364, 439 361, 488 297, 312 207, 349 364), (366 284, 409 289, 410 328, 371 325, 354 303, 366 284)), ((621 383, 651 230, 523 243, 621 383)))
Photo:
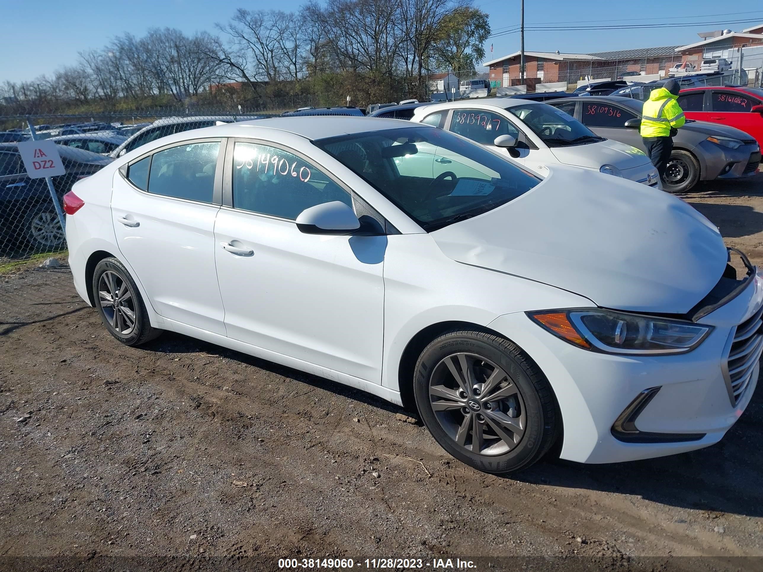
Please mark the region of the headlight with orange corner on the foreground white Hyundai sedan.
POLYGON ((528 312, 530 320, 565 342, 592 352, 681 354, 700 345, 713 326, 598 308, 528 312))

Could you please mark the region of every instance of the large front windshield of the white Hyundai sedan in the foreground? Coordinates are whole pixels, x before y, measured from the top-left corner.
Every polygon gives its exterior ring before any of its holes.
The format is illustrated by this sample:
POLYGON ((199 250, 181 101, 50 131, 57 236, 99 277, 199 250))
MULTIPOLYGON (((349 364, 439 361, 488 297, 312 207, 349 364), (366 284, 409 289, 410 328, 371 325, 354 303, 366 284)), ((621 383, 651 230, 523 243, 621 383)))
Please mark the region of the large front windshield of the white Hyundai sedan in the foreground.
POLYGON ((417 126, 314 141, 427 232, 475 217, 541 179, 485 147, 417 126))

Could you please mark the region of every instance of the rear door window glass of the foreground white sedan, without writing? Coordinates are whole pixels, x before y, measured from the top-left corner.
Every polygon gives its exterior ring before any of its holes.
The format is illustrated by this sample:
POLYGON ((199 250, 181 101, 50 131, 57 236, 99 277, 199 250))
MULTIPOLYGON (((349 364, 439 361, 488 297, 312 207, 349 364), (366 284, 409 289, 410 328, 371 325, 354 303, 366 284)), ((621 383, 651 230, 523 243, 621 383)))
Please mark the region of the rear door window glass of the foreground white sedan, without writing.
POLYGON ((154 153, 148 191, 165 197, 211 203, 219 150, 218 142, 191 143, 154 153))

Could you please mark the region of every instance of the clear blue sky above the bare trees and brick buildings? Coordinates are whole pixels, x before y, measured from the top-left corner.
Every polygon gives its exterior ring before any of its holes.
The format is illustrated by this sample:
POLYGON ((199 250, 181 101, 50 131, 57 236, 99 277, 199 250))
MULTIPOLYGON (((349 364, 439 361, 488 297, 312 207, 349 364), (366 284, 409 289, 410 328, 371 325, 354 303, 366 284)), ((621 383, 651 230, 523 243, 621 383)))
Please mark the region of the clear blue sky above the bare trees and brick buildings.
MULTIPOLYGON (((177 27, 186 33, 214 32, 215 22, 225 22, 236 8, 298 10, 301 0, 279 2, 242 2, 241 0, 131 0, 130 2, 60 2, 60 0, 0 0, 3 26, 3 56, 0 58, 0 82, 34 79, 62 66, 76 63, 77 53, 100 48, 111 37, 130 32, 140 36, 150 27, 177 27), (37 33, 31 32, 32 28, 37 33), (10 48, 13 47, 11 50, 10 48)), ((475 0, 475 5, 490 14, 491 27, 513 27, 520 21, 519 0, 475 0)), ((641 2, 601 2, 599 0, 526 0, 526 25, 539 22, 636 21, 659 14, 668 22, 703 20, 722 21, 759 18, 763 21, 760 0, 737 0, 726 17, 697 18, 691 14, 721 14, 717 0, 641 0, 641 2)), ((649 21, 652 22, 652 21, 649 21)), ((603 25, 621 22, 602 22, 603 25)), ((573 24, 586 25, 586 24, 573 24)), ((597 25, 597 24, 590 24, 597 25)), ((735 31, 753 24, 731 24, 735 31)), ((698 41, 697 32, 721 26, 616 31, 527 31, 525 49, 561 52, 596 52, 655 47, 698 41)), ((488 40, 486 59, 519 50, 519 34, 488 40), (491 54, 490 44, 494 44, 491 54)))

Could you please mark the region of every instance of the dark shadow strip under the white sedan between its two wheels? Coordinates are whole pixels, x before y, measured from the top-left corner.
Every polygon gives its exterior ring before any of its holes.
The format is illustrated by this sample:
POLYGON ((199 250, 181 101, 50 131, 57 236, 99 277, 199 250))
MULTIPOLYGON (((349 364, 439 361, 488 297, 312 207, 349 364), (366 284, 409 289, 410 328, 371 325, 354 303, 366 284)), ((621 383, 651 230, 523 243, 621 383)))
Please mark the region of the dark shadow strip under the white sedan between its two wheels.
POLYGON ((208 342, 204 342, 200 339, 184 336, 179 333, 165 332, 158 339, 153 342, 146 343, 135 349, 144 350, 148 352, 162 352, 162 353, 205 353, 208 355, 216 355, 224 358, 232 359, 236 362, 240 362, 245 365, 251 365, 253 368, 259 368, 263 371, 269 371, 273 374, 282 375, 285 378, 291 378, 296 381, 301 381, 304 384, 311 387, 317 387, 330 391, 333 394, 352 399, 360 403, 365 403, 371 407, 377 407, 378 409, 388 411, 390 413, 404 413, 407 416, 412 416, 418 419, 418 413, 414 411, 407 411, 403 407, 399 407, 394 403, 383 400, 380 397, 375 397, 372 394, 365 391, 349 387, 349 385, 341 384, 338 381, 331 381, 330 379, 320 378, 317 375, 307 374, 304 371, 289 368, 285 365, 279 365, 275 362, 269 362, 265 359, 256 358, 253 355, 237 352, 233 349, 227 349, 221 345, 214 345, 208 342))

